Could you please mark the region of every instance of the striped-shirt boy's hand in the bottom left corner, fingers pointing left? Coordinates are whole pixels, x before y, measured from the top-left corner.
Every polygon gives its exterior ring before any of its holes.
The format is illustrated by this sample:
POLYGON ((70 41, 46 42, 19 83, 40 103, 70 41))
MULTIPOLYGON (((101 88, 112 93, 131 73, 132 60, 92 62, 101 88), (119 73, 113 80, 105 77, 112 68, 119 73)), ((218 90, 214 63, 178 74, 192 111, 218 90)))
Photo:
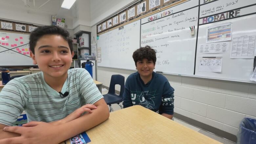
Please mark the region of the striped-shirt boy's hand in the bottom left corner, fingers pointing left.
POLYGON ((54 136, 55 126, 46 122, 33 121, 33 127, 10 126, 5 127, 5 132, 21 134, 18 137, 5 138, 0 140, 0 144, 38 144, 38 143, 60 143, 61 140, 54 136))

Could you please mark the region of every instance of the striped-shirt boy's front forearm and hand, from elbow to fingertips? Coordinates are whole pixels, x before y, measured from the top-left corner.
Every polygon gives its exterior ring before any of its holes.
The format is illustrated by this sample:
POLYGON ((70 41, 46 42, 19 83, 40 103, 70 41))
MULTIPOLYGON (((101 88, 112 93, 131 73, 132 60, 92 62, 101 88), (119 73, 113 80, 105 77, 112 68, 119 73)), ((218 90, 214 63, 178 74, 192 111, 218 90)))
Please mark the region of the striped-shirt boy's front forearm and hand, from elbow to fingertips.
MULTIPOLYGON (((32 127, 7 127, 5 131, 21 134, 21 137, 18 139, 18 143, 22 143, 21 141, 26 143, 34 143, 35 141, 30 141, 32 140, 32 137, 36 139, 36 141, 40 141, 42 143, 60 143, 77 134, 91 129, 92 127, 95 127, 108 119, 109 109, 105 100, 101 98, 94 103, 94 105, 97 108, 92 110, 92 113, 86 113, 83 116, 80 116, 67 123, 51 125, 45 122, 32 122, 32 125, 34 125, 32 127)), ((13 138, 3 137, 2 140, 0 140, 0 143, 5 144, 10 141, 17 141, 14 136, 12 137, 13 138)))

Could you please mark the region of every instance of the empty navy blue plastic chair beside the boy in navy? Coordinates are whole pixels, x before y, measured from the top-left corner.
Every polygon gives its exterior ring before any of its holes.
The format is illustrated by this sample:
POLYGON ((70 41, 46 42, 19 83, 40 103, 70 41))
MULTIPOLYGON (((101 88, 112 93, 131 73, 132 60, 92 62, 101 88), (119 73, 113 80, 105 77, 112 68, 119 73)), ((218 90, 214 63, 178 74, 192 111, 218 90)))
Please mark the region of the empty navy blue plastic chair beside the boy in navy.
POLYGON ((123 93, 124 93, 124 76, 120 75, 120 74, 115 74, 111 76, 111 80, 110 80, 110 86, 109 86, 109 91, 107 94, 104 94, 104 100, 106 101, 107 105, 109 105, 110 107, 110 111, 114 111, 112 108, 112 104, 118 104, 121 109, 123 109, 123 107, 121 106, 120 102, 123 101, 123 93), (121 89, 120 89, 120 94, 117 95, 115 93, 115 85, 120 85, 121 89))

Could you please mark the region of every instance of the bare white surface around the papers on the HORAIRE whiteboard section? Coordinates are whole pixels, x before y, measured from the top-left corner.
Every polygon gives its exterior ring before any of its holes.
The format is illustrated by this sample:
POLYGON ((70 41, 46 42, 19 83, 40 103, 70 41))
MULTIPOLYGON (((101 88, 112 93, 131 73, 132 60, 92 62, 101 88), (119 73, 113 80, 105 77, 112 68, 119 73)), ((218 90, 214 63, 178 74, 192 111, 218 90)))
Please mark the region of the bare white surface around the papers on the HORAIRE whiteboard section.
MULTIPOLYGON (((227 1, 216 1, 212 2, 206 5, 203 5, 208 8, 214 8, 216 6, 220 5, 220 2, 223 2, 224 6, 226 3, 231 2, 232 0, 227 1)), ((241 5, 236 5, 236 8, 240 8, 245 6, 245 1, 238 1, 241 2, 241 5)), ((256 2, 253 1, 255 4, 256 2)), ((247 0, 246 4, 250 5, 252 4, 252 0, 247 0)), ((234 9, 234 7, 232 7, 234 9)), ((200 9, 202 10, 202 9, 200 9)), ((228 9, 229 10, 229 9, 228 9)), ((226 11, 226 10, 224 10, 226 11)), ((240 15, 246 15, 249 13, 256 12, 256 6, 246 7, 240 9, 240 15)), ((219 13, 219 12, 218 12, 219 13)), ((219 21, 215 23, 208 23, 204 25, 199 26, 199 32, 198 32, 198 44, 197 48, 199 48, 200 44, 205 44, 207 35, 206 35, 206 29, 208 27, 218 26, 226 23, 232 24, 232 35, 231 37, 235 37, 237 35, 256 35, 256 29, 255 29, 255 19, 256 14, 247 15, 243 17, 237 17, 233 19, 227 19, 224 21, 219 21)), ((200 19, 201 20, 201 19, 200 19)), ((200 21, 200 24, 203 24, 202 21, 200 21)), ((236 80, 236 81, 249 81, 250 75, 253 72, 253 61, 254 59, 231 59, 230 53, 232 51, 232 40, 227 41, 229 44, 228 52, 227 53, 216 53, 216 54, 206 54, 202 53, 197 50, 197 57, 196 57, 196 67, 195 67, 195 75, 196 76, 202 76, 202 77, 210 77, 210 78, 219 78, 219 79, 229 79, 229 80, 236 80), (221 57, 222 58, 222 71, 221 72, 199 72, 199 57, 221 57)), ((254 50, 254 55, 255 55, 254 50)))

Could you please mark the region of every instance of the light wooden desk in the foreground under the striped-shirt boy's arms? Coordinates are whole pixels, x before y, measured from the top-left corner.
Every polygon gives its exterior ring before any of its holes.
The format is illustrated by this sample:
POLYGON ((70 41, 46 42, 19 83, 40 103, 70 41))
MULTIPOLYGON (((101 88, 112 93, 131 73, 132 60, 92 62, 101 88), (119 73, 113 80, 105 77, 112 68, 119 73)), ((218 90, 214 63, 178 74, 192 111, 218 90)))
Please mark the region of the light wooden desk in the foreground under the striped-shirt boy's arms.
POLYGON ((111 112, 108 120, 86 133, 89 144, 220 144, 139 105, 111 112))

